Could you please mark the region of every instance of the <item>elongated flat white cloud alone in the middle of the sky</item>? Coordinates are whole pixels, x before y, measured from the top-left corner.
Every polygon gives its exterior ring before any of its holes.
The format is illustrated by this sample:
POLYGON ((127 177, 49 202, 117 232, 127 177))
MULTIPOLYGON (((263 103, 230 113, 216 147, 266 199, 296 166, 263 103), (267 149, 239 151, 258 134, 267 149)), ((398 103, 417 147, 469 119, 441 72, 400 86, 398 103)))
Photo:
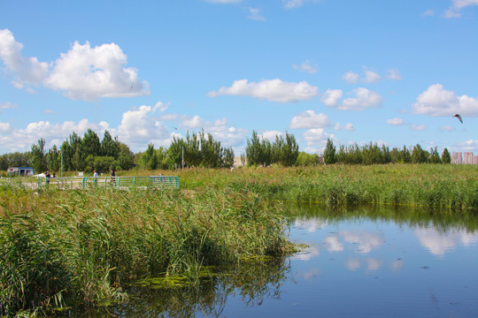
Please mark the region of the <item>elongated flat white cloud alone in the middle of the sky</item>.
POLYGON ((238 79, 231 87, 220 87, 218 91, 209 92, 208 96, 240 95, 270 102, 298 102, 310 100, 318 95, 318 92, 318 87, 306 81, 294 83, 284 82, 281 79, 266 79, 256 83, 248 82, 247 79, 238 79))

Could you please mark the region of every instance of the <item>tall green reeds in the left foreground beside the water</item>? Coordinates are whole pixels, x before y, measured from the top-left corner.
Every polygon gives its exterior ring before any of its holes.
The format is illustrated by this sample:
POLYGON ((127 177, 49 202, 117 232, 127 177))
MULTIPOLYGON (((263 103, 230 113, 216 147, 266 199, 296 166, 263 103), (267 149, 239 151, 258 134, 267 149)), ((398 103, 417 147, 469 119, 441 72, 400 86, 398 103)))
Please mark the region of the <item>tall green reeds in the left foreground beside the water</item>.
POLYGON ((0 315, 125 299, 145 276, 285 254, 281 207, 249 191, 0 188, 0 315))

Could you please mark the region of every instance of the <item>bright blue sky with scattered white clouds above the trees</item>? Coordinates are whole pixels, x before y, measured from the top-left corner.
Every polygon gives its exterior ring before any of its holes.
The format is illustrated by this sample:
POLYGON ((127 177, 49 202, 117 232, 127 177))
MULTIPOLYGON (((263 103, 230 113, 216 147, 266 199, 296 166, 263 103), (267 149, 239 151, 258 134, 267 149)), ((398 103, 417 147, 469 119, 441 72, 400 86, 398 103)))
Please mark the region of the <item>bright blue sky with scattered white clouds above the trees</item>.
POLYGON ((478 152, 478 0, 0 0, 0 154, 88 128, 478 152))

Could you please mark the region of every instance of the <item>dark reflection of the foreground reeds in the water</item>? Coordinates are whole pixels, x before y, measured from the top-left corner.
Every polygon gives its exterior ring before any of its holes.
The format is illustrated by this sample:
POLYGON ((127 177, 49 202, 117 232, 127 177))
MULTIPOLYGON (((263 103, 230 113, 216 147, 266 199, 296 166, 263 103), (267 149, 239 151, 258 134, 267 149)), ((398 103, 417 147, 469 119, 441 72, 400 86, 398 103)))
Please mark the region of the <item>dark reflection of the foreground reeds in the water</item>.
POLYGON ((214 269, 198 284, 163 287, 131 287, 125 304, 88 308, 75 317, 220 317, 227 297, 242 299, 244 308, 260 306, 268 297, 279 298, 281 284, 289 273, 289 260, 275 258, 242 261, 228 268, 214 269))

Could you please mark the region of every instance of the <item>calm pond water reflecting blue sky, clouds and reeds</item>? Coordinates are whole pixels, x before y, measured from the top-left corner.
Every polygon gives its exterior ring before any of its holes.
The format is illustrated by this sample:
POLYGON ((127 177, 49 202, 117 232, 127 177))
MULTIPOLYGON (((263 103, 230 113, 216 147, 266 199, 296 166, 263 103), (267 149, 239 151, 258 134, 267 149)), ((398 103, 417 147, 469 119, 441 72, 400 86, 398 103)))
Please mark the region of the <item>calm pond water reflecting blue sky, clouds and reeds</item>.
POLYGON ((478 317, 478 216, 424 208, 289 206, 280 260, 212 270, 196 287, 138 288, 83 316, 478 317))

